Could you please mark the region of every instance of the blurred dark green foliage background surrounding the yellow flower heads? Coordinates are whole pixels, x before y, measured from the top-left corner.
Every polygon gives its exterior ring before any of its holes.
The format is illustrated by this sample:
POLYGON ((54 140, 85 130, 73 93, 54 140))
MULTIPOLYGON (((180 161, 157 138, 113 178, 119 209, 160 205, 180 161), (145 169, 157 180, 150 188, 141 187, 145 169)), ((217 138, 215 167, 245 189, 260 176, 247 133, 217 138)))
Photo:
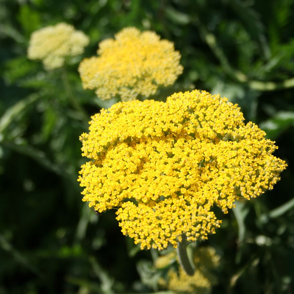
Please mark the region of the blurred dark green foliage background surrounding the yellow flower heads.
MULTIPOLYGON (((115 212, 96 216, 76 181, 87 124, 61 71, 26 57, 31 33, 61 21, 91 41, 68 61, 88 117, 107 107, 77 72, 98 42, 126 26, 156 31, 182 55, 173 89, 198 88, 238 103, 288 163, 281 181, 237 203, 204 245, 220 255, 212 293, 294 292, 294 1, 0 0, 0 294, 152 293, 156 252, 124 237, 115 212)), ((166 292, 167 293, 167 292, 166 292)))

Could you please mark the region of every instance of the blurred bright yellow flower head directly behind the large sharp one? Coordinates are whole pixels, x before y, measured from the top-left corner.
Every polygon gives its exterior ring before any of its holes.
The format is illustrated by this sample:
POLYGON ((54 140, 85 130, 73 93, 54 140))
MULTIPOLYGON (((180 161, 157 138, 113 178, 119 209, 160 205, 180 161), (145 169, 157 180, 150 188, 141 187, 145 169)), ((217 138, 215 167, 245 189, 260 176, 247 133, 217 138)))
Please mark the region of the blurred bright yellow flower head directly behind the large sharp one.
POLYGON ((84 89, 96 89, 101 99, 119 96, 121 101, 148 97, 159 86, 175 82, 183 67, 181 55, 172 42, 160 40, 152 31, 134 27, 121 30, 115 39, 99 44, 97 54, 84 59, 80 66, 84 89))

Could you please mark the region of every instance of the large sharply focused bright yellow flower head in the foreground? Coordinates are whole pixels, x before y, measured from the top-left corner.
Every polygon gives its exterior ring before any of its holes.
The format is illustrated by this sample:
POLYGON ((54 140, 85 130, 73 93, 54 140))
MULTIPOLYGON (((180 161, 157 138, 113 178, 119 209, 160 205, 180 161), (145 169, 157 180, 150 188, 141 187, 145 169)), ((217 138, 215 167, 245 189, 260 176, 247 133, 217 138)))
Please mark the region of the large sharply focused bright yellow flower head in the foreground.
POLYGON ((103 212, 117 207, 124 235, 162 250, 207 239, 239 198, 272 189, 286 168, 277 148, 235 104, 205 91, 175 93, 166 103, 119 102, 92 116, 83 133, 78 181, 83 201, 103 212))

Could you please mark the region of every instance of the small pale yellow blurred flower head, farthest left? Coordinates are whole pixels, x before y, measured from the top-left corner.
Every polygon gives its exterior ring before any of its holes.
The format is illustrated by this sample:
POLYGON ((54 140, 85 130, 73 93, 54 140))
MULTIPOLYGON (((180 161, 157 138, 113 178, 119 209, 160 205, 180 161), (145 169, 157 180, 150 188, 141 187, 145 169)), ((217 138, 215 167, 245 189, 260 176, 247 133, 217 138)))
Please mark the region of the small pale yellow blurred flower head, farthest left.
POLYGON ((67 56, 83 53, 88 43, 89 38, 82 31, 76 31, 70 24, 59 23, 31 35, 28 57, 41 59, 47 70, 56 69, 64 64, 67 56))

